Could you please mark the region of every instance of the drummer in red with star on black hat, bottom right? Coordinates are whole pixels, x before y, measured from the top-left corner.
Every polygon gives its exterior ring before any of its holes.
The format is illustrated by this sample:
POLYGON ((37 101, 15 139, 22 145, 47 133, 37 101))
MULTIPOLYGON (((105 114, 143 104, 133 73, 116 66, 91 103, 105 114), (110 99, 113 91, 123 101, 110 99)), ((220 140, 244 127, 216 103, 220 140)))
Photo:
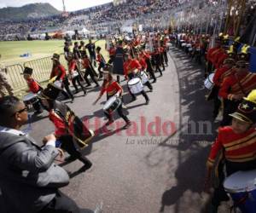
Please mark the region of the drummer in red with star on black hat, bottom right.
MULTIPOLYGON (((236 112, 230 114, 232 124, 218 129, 218 137, 212 144, 212 149, 207 160, 207 183, 213 169, 213 164, 217 161, 218 153, 223 156, 218 164, 218 187, 215 188, 212 196, 211 213, 218 212, 221 201, 228 200, 229 197, 224 191, 224 171, 227 176, 239 170, 256 169, 256 90, 253 90, 247 98, 241 102, 236 112)), ((219 161, 218 161, 219 162, 219 161)))

